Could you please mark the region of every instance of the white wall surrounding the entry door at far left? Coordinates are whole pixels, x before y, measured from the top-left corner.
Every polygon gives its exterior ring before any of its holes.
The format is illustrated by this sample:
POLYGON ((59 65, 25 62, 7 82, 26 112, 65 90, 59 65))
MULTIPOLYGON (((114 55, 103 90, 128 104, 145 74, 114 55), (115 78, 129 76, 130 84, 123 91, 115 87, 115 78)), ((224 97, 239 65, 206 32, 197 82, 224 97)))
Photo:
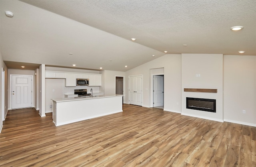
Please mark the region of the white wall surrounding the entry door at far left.
POLYGON ((12 109, 12 82, 11 82, 11 78, 10 75, 32 75, 33 77, 33 83, 32 83, 32 107, 34 107, 35 105, 35 71, 34 70, 20 70, 20 69, 8 69, 8 110, 12 109))

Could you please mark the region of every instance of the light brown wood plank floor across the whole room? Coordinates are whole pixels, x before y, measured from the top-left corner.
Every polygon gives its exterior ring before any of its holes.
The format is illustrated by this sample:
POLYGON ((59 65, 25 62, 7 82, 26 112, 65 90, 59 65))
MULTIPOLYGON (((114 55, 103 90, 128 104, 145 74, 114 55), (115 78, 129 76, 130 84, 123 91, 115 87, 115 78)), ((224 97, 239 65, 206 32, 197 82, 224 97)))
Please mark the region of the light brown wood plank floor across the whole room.
POLYGON ((58 127, 51 113, 10 110, 0 166, 256 166, 256 127, 128 104, 123 110, 58 127))

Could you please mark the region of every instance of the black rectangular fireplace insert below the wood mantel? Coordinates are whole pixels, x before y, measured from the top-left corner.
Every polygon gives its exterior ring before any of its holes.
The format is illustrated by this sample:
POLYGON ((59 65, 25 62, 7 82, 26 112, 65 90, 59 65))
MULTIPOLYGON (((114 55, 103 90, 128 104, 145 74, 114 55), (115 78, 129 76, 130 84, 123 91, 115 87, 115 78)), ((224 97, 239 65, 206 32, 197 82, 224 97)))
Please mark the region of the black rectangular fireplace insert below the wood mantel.
POLYGON ((186 108, 208 112, 216 112, 216 100, 207 98, 186 98, 186 108))

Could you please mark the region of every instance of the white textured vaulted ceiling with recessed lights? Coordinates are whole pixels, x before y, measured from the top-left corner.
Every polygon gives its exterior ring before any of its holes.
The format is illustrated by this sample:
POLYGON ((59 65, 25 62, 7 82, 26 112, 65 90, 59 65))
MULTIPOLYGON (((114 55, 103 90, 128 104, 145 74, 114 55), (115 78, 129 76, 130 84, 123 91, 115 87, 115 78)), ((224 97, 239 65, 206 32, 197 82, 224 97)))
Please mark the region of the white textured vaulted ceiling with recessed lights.
POLYGON ((0 3, 1 11, 14 13, 13 18, 0 15, 1 53, 6 61, 126 71, 164 55, 163 51, 240 55, 243 50, 243 55, 256 55, 256 0, 0 3), (244 29, 231 31, 232 26, 244 29), (73 57, 68 57, 70 52, 73 57))

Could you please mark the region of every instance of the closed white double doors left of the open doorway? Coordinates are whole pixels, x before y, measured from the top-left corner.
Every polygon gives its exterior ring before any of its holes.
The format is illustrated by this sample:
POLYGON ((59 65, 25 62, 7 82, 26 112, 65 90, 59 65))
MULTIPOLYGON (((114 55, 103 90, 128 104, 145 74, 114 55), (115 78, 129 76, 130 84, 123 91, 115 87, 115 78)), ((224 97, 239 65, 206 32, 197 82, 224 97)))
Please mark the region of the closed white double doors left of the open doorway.
POLYGON ((129 79, 130 84, 130 104, 142 106, 142 75, 131 76, 129 79))

